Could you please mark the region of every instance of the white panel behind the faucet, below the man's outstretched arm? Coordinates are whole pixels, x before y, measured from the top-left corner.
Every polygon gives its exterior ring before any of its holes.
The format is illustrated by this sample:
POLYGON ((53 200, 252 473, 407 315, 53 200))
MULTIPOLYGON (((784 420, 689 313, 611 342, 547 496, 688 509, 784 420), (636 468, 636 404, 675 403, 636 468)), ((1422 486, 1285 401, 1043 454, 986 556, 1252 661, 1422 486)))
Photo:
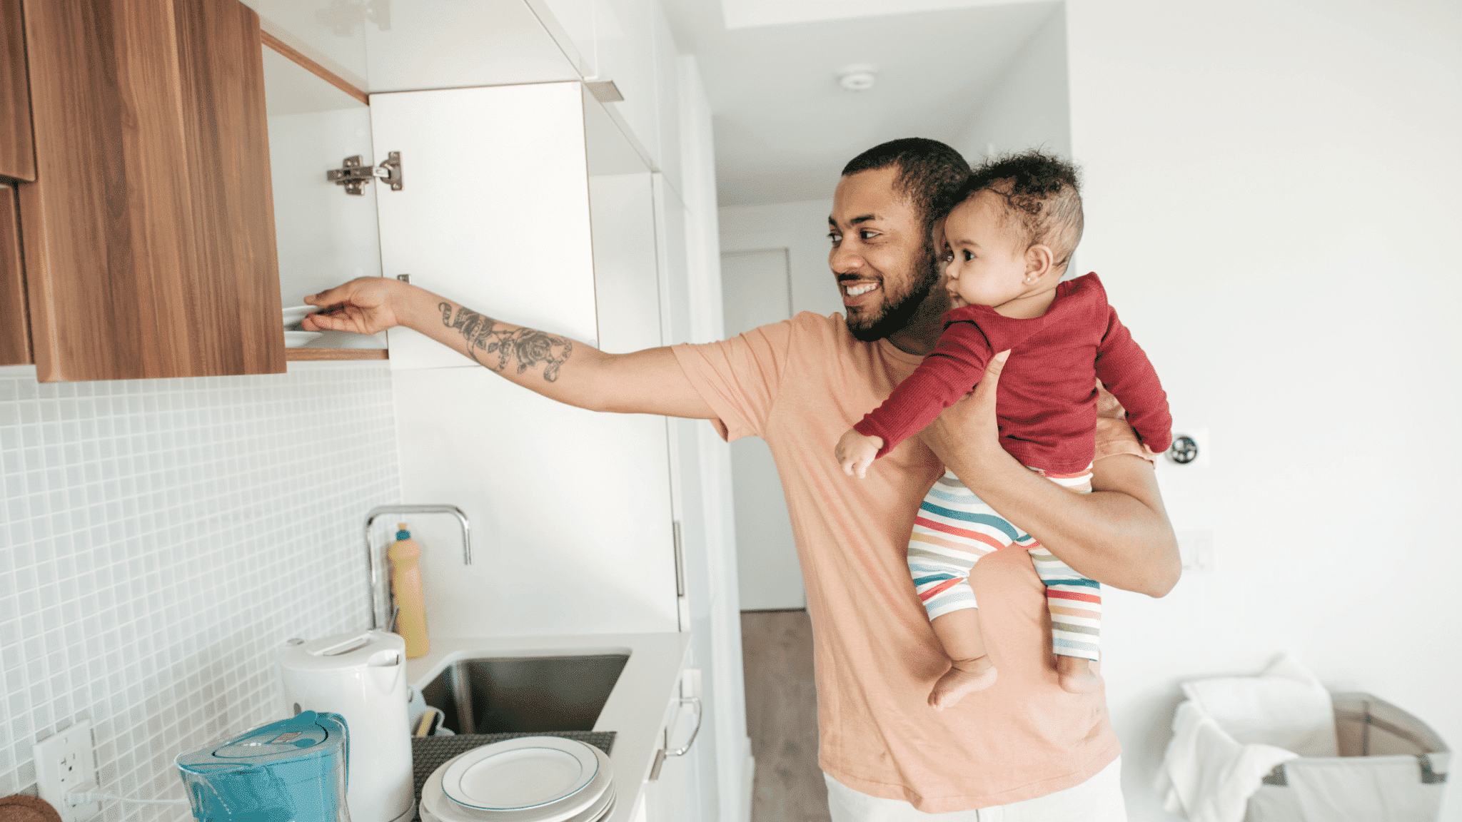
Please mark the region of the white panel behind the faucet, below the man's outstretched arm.
POLYGON ((396 372, 433 638, 677 630, 665 418, 561 405, 485 369, 396 372))

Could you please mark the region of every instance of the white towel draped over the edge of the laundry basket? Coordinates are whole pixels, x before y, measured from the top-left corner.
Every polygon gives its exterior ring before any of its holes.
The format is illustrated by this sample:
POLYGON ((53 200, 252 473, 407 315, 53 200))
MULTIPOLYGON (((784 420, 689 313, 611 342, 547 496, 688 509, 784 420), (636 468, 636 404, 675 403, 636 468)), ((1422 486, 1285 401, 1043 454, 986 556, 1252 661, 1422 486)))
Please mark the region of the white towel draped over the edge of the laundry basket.
POLYGON ((1183 683, 1183 693, 1154 787, 1189 822, 1243 822, 1275 765, 1336 756, 1330 693, 1288 657, 1259 676, 1183 683))

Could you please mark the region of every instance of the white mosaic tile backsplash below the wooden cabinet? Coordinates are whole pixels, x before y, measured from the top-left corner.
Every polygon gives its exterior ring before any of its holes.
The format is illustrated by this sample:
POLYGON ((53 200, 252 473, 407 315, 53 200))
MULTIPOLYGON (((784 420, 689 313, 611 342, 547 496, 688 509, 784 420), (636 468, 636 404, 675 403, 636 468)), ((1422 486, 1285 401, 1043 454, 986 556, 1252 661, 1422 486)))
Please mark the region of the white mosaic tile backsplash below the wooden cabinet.
POLYGON ((360 524, 401 502, 390 372, 0 373, 0 796, 88 718, 102 790, 181 797, 178 752, 284 715, 285 639, 368 620, 360 524))

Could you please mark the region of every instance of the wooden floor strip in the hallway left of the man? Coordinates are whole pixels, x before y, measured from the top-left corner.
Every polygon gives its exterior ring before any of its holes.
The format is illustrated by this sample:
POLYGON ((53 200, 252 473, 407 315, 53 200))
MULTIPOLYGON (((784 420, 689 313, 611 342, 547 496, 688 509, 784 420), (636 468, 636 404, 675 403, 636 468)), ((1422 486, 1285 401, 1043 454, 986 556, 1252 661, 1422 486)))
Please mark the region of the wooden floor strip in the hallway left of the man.
POLYGON ((756 758, 751 822, 830 822, 817 768, 817 692, 807 611, 744 611, 746 725, 756 758))

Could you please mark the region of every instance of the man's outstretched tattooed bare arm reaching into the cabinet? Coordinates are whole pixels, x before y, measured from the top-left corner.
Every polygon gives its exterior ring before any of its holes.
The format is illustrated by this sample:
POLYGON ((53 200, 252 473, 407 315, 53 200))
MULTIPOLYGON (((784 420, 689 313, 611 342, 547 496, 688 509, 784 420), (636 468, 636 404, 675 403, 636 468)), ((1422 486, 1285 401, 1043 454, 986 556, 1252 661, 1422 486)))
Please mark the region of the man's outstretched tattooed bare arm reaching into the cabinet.
POLYGON ((544 331, 506 323, 466 306, 383 276, 364 276, 306 297, 326 312, 306 331, 377 333, 392 326, 418 331, 550 399, 621 414, 715 418, 670 348, 605 354, 544 331))

